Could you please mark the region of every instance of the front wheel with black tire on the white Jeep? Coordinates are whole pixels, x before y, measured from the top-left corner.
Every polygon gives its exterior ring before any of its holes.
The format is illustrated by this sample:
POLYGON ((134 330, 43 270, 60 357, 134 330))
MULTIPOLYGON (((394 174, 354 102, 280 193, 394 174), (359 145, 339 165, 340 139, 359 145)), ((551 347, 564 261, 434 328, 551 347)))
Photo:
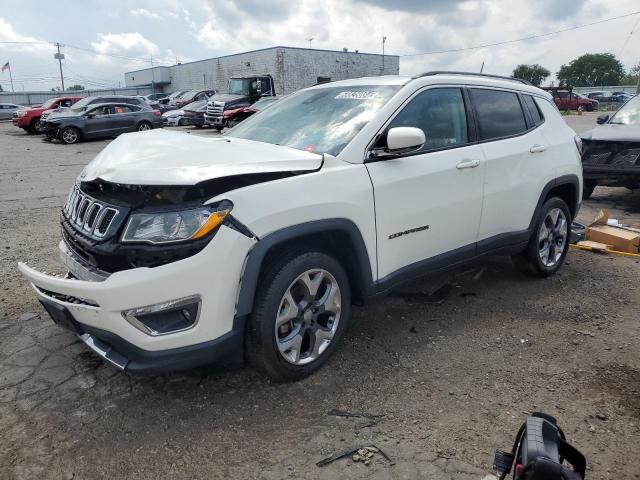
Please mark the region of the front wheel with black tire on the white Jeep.
POLYGON ((336 349, 350 307, 349 279, 335 258, 319 251, 274 258, 247 326, 247 360, 276 382, 311 375, 336 349))

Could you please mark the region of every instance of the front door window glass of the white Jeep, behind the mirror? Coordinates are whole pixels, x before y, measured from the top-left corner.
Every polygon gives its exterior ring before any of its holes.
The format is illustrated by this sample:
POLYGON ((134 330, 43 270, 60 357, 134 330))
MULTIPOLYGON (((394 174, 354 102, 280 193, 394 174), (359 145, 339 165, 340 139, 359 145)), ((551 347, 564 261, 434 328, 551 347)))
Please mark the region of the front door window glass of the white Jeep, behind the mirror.
POLYGON ((420 152, 464 145, 469 141, 464 98, 459 88, 433 88, 416 95, 389 124, 422 129, 420 152))

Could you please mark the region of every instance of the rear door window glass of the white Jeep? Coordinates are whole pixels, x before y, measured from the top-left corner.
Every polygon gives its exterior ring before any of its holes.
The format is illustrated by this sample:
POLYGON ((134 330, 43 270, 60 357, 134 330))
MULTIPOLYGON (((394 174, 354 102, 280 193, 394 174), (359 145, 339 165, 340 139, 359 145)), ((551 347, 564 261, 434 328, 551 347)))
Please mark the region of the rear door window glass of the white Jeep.
POLYGON ((482 140, 509 137, 527 130, 517 94, 474 88, 471 89, 471 100, 482 140))

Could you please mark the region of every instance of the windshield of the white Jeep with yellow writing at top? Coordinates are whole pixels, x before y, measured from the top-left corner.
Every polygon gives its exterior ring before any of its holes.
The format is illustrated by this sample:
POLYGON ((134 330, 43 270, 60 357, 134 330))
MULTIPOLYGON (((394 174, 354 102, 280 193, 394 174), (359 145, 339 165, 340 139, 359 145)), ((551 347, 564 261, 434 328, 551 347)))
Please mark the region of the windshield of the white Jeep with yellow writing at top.
POLYGON ((399 89, 359 85, 304 90, 249 117, 228 135, 337 155, 399 89))

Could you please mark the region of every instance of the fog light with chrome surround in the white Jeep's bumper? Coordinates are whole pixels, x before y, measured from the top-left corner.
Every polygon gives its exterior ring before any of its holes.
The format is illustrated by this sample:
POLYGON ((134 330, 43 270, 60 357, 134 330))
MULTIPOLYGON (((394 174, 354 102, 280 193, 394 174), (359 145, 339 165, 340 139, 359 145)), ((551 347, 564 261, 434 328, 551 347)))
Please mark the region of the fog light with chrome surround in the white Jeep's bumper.
POLYGON ((122 316, 138 330, 156 337, 193 328, 200 317, 201 303, 200 297, 194 295, 125 310, 122 316))

